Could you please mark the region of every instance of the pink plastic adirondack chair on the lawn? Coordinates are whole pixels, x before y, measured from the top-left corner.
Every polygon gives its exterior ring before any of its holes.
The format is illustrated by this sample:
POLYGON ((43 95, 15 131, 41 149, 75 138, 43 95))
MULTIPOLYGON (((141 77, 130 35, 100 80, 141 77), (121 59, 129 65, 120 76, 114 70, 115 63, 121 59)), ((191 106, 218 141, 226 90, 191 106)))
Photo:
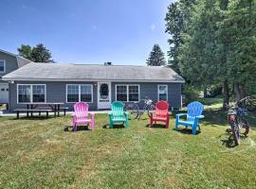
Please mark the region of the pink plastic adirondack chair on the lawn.
POLYGON ((78 102, 74 105, 74 113, 72 114, 73 130, 77 130, 78 124, 90 124, 91 129, 95 129, 94 113, 88 112, 89 105, 85 102, 78 102), (91 114, 91 118, 88 118, 91 114))

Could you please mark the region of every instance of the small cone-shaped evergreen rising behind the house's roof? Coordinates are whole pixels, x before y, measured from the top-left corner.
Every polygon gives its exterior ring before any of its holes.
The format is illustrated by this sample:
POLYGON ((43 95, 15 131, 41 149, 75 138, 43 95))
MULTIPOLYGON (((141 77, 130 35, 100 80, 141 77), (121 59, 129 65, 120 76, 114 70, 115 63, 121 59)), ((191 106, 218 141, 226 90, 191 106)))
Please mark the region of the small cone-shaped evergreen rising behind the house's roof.
POLYGON ((150 66, 161 66, 166 64, 164 53, 158 44, 153 46, 149 59, 146 63, 150 66))

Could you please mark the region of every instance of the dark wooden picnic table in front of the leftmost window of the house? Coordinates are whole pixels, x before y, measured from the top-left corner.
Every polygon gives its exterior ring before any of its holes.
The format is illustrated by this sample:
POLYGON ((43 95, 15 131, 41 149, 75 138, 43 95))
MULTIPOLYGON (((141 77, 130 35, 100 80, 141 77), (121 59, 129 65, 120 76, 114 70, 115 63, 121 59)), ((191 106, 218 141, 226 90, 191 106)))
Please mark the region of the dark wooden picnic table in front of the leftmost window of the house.
MULTIPOLYGON (((51 108, 51 110, 54 112, 54 116, 58 113, 58 116, 60 116, 60 110, 61 105, 64 105, 64 102, 46 102, 46 103, 27 103, 27 110, 33 110, 40 106, 48 106, 51 108)), ((33 115, 33 112, 30 112, 31 116, 33 115)), ((28 112, 27 112, 28 115, 28 112)))

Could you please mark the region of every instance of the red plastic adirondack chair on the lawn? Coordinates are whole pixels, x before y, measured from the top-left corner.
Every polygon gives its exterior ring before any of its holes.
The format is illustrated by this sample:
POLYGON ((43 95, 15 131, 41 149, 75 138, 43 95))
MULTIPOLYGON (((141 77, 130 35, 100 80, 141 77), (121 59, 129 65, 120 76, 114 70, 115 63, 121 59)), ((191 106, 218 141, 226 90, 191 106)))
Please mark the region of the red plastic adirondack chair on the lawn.
POLYGON ((155 113, 150 112, 150 127, 152 127, 153 123, 156 121, 165 122, 166 129, 169 129, 169 120, 172 112, 169 111, 169 104, 166 101, 159 101, 155 104, 155 113))

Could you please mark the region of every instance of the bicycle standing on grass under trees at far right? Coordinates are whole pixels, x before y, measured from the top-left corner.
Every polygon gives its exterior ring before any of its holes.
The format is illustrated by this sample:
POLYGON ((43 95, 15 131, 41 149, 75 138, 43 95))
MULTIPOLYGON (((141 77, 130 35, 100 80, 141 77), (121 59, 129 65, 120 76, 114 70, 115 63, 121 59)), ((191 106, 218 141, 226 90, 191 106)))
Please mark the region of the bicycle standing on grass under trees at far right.
POLYGON ((234 106, 227 105, 229 110, 228 112, 228 121, 231 129, 227 131, 232 132, 233 140, 236 146, 239 146, 240 143, 240 133, 244 134, 247 137, 249 132, 249 124, 245 119, 244 115, 246 114, 246 109, 242 108, 244 102, 247 103, 248 97, 245 97, 238 101, 234 106), (245 129, 244 132, 241 132, 242 129, 245 129))

